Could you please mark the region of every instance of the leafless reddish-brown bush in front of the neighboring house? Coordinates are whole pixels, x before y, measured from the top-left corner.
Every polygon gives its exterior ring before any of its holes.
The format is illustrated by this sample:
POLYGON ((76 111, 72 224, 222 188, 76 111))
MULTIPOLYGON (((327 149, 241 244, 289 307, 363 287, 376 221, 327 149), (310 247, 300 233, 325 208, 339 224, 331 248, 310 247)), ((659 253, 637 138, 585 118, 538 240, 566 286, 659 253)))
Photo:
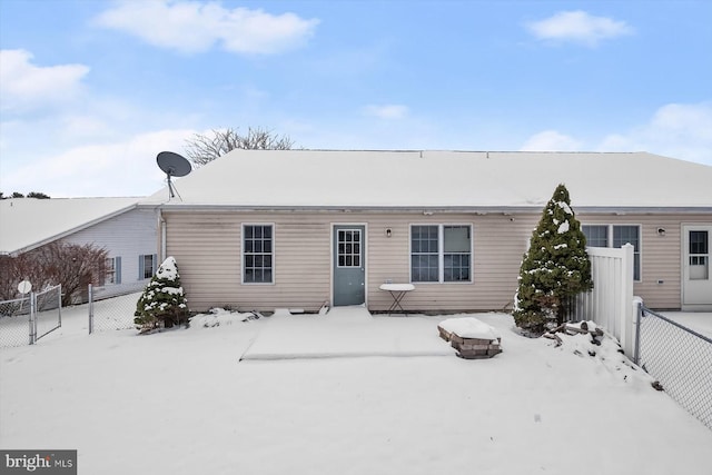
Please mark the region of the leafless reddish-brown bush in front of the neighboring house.
POLYGON ((107 250, 91 244, 50 243, 17 257, 0 256, 0 298, 17 298, 17 285, 29 279, 41 290, 62 285, 62 305, 71 305, 91 283, 107 275, 107 250))

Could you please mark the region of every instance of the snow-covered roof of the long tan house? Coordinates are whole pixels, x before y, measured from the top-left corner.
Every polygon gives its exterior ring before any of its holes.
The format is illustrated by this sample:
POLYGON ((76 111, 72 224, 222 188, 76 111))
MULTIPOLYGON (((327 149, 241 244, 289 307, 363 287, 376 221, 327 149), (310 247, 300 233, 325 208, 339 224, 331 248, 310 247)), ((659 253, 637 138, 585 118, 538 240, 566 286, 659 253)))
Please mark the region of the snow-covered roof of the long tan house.
POLYGON ((144 202, 169 207, 712 210, 712 167, 645 152, 234 150, 144 202))

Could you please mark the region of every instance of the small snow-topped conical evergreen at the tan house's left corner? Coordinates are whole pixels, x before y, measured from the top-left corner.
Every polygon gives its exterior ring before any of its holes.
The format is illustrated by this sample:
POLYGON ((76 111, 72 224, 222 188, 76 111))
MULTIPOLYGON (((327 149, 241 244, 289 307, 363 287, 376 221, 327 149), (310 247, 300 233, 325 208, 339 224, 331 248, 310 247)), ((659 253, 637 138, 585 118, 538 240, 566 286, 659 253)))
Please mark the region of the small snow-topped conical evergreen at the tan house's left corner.
POLYGON ((187 319, 187 301, 176 259, 170 256, 160 265, 138 299, 134 323, 141 333, 160 326, 172 327, 187 319))

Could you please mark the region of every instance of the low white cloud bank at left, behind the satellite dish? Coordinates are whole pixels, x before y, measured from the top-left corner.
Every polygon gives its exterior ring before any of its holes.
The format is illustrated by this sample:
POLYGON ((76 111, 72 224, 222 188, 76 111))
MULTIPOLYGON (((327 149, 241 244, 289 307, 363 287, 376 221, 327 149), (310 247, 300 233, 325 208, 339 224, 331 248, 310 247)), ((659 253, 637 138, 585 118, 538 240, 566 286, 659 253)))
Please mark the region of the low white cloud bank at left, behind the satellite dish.
POLYGON ((3 174, 2 191, 42 191, 58 198, 150 195, 165 185, 166 176, 156 165, 158 152, 180 154, 194 133, 159 130, 125 141, 75 147, 3 174))

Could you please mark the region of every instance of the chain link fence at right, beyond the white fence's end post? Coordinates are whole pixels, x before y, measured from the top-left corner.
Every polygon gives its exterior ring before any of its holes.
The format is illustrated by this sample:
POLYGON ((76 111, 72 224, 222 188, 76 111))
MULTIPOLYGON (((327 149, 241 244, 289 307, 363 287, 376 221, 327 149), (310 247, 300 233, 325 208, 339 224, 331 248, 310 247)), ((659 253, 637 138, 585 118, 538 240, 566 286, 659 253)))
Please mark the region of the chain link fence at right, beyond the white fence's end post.
POLYGON ((636 363, 712 429, 712 339, 645 307, 639 321, 636 363))

